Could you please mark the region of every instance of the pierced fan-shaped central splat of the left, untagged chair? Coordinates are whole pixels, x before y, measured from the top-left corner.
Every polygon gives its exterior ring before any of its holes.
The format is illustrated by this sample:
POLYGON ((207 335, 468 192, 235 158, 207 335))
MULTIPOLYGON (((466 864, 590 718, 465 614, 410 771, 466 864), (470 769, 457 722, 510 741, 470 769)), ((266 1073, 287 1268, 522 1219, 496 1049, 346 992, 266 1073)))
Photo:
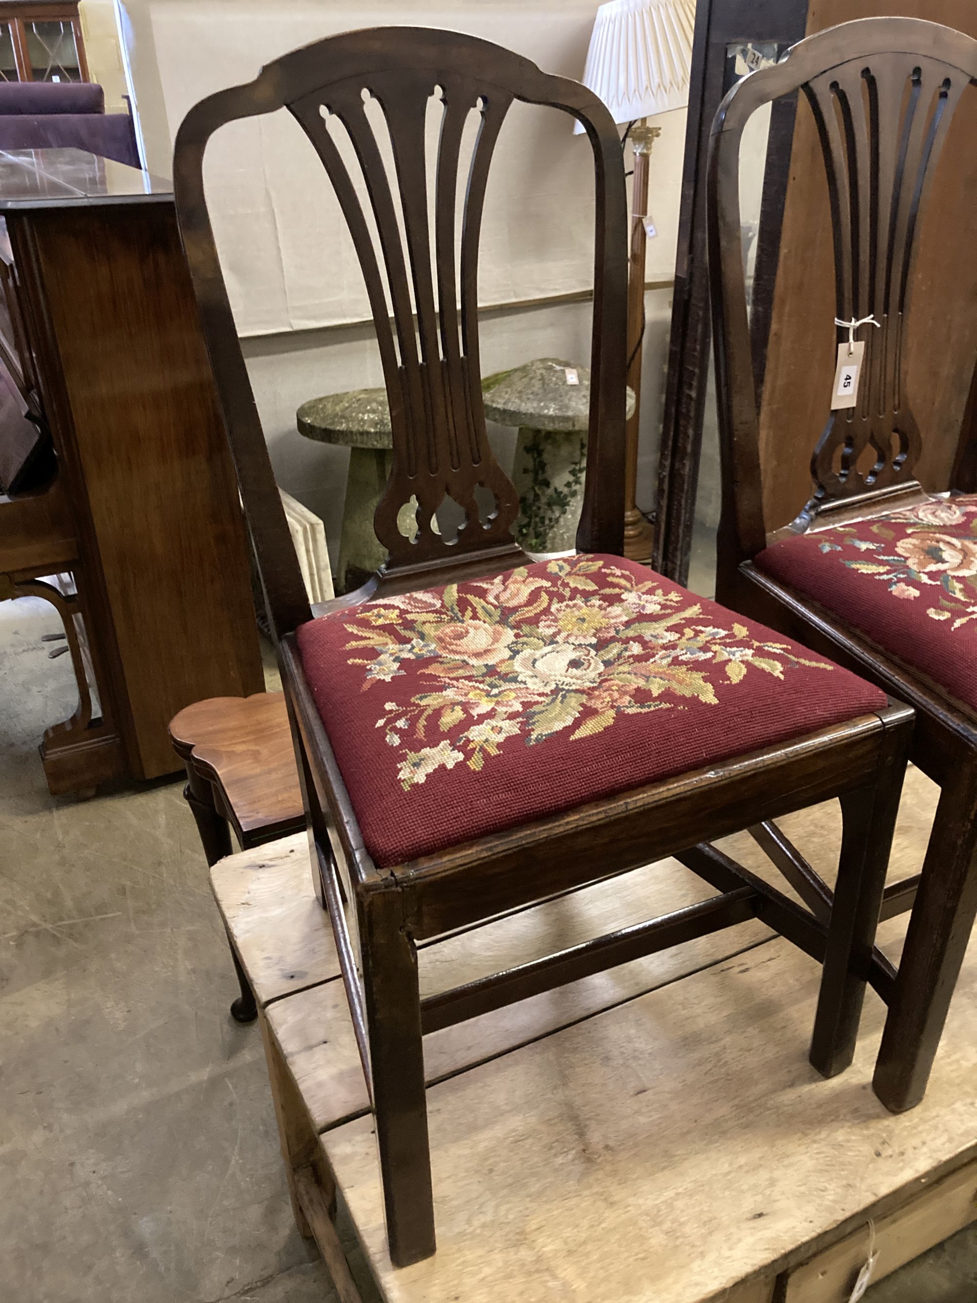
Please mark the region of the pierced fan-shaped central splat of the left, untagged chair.
POLYGON ((374 73, 366 85, 363 81, 362 76, 347 78, 288 107, 315 146, 336 190, 376 323, 393 430, 393 472, 376 508, 375 530, 396 564, 427 560, 447 546, 464 549, 512 537, 509 526, 518 499, 492 456, 485 431, 475 272, 488 163, 513 96, 495 87, 479 94, 475 79, 457 74, 443 76, 443 85, 432 85, 431 74, 423 69, 393 68, 374 73), (367 116, 370 99, 376 100, 389 132, 399 193, 389 184, 376 129, 367 116), (434 215, 427 208, 426 162, 431 100, 443 106, 434 215), (462 206, 459 287, 455 207, 462 133, 472 111, 481 122, 462 206), (379 233, 379 259, 356 185, 330 130, 331 117, 348 133, 362 169, 379 233), (431 270, 431 235, 436 275, 431 270), (479 520, 474 498, 479 483, 496 503, 485 520, 479 520), (431 528, 446 496, 453 498, 466 516, 452 543, 431 528), (409 539, 397 526, 397 515, 412 499, 417 500, 418 528, 409 539))

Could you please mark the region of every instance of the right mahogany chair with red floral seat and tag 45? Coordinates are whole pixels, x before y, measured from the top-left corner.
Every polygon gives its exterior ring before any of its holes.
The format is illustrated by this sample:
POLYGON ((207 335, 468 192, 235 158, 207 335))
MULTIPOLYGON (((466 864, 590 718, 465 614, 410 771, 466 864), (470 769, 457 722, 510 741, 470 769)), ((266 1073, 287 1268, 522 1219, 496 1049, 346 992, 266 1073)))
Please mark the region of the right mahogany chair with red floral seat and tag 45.
MULTIPOLYGON (((914 904, 898 976, 879 984, 888 1018, 874 1087, 894 1111, 924 1096, 977 913, 977 477, 964 447, 951 495, 924 493, 914 473, 930 431, 907 392, 920 227, 954 111, 976 78, 977 42, 948 27, 913 18, 832 27, 729 93, 709 164, 724 486, 718 595, 911 702, 912 760, 942 788, 922 874, 894 889, 894 903, 914 904), (813 450, 808 506, 767 537, 739 154, 752 115, 797 90, 827 168, 845 323, 838 344, 847 358, 851 323, 865 356, 857 404, 831 413, 813 450)), ((974 257, 973 240, 967 251, 974 257)), ((827 373, 826 396, 830 387, 827 373)), ((780 852, 792 856, 783 843, 780 852)), ((793 865, 806 872, 796 855, 793 865)))

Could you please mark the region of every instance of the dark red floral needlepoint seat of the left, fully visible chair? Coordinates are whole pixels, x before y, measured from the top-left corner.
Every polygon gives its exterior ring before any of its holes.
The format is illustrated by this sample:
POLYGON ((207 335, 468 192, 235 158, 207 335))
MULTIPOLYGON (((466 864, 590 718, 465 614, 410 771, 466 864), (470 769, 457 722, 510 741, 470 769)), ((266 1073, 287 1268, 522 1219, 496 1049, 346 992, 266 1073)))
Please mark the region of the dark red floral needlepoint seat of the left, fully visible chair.
POLYGON ((347 607, 302 625, 298 649, 382 866, 886 701, 619 556, 347 607))

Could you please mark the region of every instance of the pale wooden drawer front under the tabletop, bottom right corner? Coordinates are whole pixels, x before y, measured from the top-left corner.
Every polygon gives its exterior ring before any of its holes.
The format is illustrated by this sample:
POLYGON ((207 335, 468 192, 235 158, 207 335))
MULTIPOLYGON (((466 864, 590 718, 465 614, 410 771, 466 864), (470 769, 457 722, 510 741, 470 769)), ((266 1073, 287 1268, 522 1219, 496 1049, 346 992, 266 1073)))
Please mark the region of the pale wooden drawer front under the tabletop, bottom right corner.
POLYGON ((933 1244, 977 1221, 977 1162, 929 1184, 898 1212, 865 1226, 795 1268, 783 1303, 848 1303, 869 1252, 878 1253, 871 1273, 881 1281, 933 1244))

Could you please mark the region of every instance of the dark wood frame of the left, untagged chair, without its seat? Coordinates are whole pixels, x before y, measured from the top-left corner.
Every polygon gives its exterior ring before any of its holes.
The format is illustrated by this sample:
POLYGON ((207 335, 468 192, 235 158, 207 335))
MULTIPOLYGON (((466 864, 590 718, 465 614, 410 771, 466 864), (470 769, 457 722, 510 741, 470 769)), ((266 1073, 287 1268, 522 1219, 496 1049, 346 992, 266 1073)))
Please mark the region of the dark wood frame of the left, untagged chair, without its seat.
POLYGON ((389 558, 363 589, 330 603, 335 610, 374 597, 502 573, 529 559, 512 538, 517 502, 485 437, 478 383, 478 224, 491 150, 513 99, 572 115, 584 125, 593 151, 591 407, 577 547, 621 555, 627 206, 617 130, 597 96, 577 82, 547 76, 529 60, 473 36, 406 27, 347 33, 275 60, 250 85, 205 99, 184 120, 175 155, 180 224, 281 666, 317 893, 330 911, 371 1092, 389 1251, 397 1265, 435 1248, 422 1053, 427 1032, 692 937, 762 917, 823 963, 812 1062, 825 1075, 848 1065, 866 979, 885 980, 871 967, 871 943, 912 722, 911 711, 892 704, 878 714, 449 846, 392 869, 373 863, 296 649, 296 629, 313 618, 313 611, 221 278, 205 198, 203 154, 208 138, 225 122, 287 107, 331 176, 363 266, 393 426, 393 468, 375 516, 378 538, 388 547, 389 558), (435 86, 442 87, 444 99, 434 220, 439 310, 434 305, 422 149, 426 106, 435 86), (409 271, 395 220, 393 192, 375 141, 365 129, 363 89, 380 100, 387 113, 409 271), (328 107, 328 115, 323 115, 322 106, 328 107), (481 115, 481 126, 464 203, 457 287, 456 159, 464 119, 473 108, 481 115), (383 249, 389 304, 363 211, 331 143, 328 122, 323 125, 333 115, 356 142, 383 249), (487 520, 479 520, 477 512, 474 490, 479 483, 496 500, 496 512, 487 520), (446 493, 468 509, 470 521, 453 543, 431 529, 432 513, 446 493), (396 528, 397 511, 412 495, 418 503, 413 543, 396 528), (702 863, 697 859, 694 848, 700 842, 835 796, 842 801, 844 835, 830 920, 799 908, 722 856, 703 852, 702 863), (720 894, 421 999, 418 942, 675 852, 688 852, 689 863, 720 894))

